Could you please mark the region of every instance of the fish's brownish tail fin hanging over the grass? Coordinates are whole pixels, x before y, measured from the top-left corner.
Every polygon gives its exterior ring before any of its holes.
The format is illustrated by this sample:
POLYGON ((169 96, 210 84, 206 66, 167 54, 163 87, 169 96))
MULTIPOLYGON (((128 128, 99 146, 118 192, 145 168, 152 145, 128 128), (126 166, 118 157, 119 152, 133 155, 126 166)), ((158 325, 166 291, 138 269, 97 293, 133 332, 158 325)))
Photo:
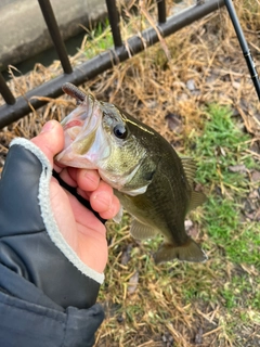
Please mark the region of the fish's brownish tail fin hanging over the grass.
POLYGON ((203 249, 191 237, 187 239, 184 245, 178 247, 169 243, 164 243, 154 255, 155 264, 170 261, 176 258, 194 262, 206 261, 208 259, 203 249))

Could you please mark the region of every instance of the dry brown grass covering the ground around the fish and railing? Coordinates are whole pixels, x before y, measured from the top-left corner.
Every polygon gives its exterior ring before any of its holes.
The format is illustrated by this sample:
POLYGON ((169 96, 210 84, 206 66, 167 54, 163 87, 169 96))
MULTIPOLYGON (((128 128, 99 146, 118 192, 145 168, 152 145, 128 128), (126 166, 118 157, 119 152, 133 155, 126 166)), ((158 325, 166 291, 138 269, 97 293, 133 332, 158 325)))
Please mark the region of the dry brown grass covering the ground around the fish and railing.
MULTIPOLYGON (((260 5, 252 1, 237 3, 237 11, 259 66, 260 5)), ((170 60, 160 42, 82 88, 152 126, 180 152, 194 131, 203 131, 206 105, 230 105, 251 134, 257 158, 260 106, 225 10, 180 30, 165 43, 170 60), (169 124, 170 115, 176 115, 179 123, 169 124)), ((73 62, 82 59, 77 55, 73 62)), ((37 65, 28 76, 11 80, 10 86, 20 95, 58 70, 58 63, 48 68, 37 65)), ((31 138, 48 119, 61 120, 74 107, 74 102, 64 97, 6 127, 0 132, 1 152, 8 152, 13 138, 31 138)), ((208 247, 210 260, 206 265, 174 261, 155 267, 151 253, 158 242, 133 241, 128 226, 127 216, 122 224, 107 226, 110 255, 100 295, 107 319, 98 333, 96 346, 259 346, 257 309, 242 304, 231 310, 223 296, 232 291, 234 277, 246 277, 248 291, 243 287, 240 293, 242 303, 246 303, 259 291, 257 267, 231 262, 207 234, 199 235, 208 247)))

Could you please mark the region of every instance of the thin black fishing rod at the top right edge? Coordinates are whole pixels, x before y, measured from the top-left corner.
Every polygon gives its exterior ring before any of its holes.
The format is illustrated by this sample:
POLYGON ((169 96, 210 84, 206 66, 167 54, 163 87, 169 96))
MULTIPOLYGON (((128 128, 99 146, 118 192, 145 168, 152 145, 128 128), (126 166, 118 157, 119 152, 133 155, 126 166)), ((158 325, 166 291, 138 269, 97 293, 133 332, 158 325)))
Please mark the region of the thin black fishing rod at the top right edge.
POLYGON ((231 21, 233 23, 234 29, 236 31, 237 39, 239 41, 244 57, 245 57, 246 63, 247 63, 247 67, 249 69, 249 73, 250 73, 255 89, 256 89, 257 94, 258 94, 258 99, 260 101, 260 81, 259 81, 259 77, 258 77, 258 72, 256 69, 256 65, 253 63, 250 50, 248 48, 246 38, 245 38, 243 29, 240 27, 240 23, 239 23, 239 21, 237 18, 235 8, 234 8, 234 5, 232 3, 232 0, 224 0, 224 3, 225 3, 225 7, 226 7, 226 9, 229 11, 229 14, 230 14, 231 21))

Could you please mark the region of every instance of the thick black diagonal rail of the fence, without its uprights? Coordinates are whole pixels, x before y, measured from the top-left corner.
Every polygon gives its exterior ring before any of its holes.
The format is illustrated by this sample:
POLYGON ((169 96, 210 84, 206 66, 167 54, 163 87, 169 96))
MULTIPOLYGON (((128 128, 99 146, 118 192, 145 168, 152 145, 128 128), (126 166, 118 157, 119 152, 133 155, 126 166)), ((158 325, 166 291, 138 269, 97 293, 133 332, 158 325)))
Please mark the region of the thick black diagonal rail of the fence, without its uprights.
MULTIPOLYGON (((186 11, 168 18, 168 21, 159 26, 164 37, 169 36, 184 26, 197 21, 212 11, 219 10, 224 4, 224 0, 212 0, 199 7, 195 5, 186 11)), ((88 62, 76 67, 70 75, 58 76, 44 85, 30 90, 25 97, 20 97, 13 106, 3 105, 0 107, 0 128, 9 125, 31 112, 28 101, 35 110, 44 105, 47 102, 42 100, 31 99, 31 97, 48 97, 57 98, 63 94, 61 89, 65 82, 72 82, 76 86, 82 85, 86 80, 91 79, 99 74, 112 68, 114 65, 128 60, 129 50, 131 55, 142 52, 145 48, 158 42, 158 36, 154 28, 148 28, 142 31, 142 36, 131 37, 127 46, 121 46, 117 49, 106 51, 98 56, 89 60, 88 62), (145 42, 145 44, 144 44, 145 42)))

